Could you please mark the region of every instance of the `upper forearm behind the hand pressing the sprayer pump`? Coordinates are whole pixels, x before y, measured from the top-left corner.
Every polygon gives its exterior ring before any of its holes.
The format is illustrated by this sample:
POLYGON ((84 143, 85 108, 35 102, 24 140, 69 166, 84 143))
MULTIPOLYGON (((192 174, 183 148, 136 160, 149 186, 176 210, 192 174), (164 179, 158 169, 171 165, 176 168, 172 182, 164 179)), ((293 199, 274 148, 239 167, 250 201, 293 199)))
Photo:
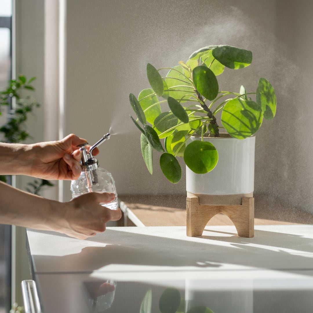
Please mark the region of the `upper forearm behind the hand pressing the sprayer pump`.
POLYGON ((29 175, 32 145, 0 142, 0 175, 29 175))

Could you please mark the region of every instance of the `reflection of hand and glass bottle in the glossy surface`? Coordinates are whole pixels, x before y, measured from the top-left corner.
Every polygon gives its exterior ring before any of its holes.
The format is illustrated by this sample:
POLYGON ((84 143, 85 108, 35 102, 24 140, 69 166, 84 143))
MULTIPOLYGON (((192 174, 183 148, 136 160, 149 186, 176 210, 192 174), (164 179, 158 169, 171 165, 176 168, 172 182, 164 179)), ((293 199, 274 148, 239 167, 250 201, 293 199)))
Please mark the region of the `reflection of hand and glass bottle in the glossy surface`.
POLYGON ((99 282, 87 282, 84 284, 89 300, 89 309, 92 313, 101 313, 109 309, 114 301, 116 282, 106 280, 99 282))

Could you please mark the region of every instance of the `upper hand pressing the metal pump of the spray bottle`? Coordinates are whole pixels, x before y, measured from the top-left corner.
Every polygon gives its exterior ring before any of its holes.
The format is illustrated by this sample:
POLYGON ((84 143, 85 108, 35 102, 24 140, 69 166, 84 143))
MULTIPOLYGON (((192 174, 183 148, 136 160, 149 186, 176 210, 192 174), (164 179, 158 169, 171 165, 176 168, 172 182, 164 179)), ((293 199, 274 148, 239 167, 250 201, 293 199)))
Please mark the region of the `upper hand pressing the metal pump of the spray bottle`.
MULTIPOLYGON (((43 179, 77 179, 81 173, 81 151, 78 145, 86 140, 70 134, 59 141, 39 142, 31 146, 29 176, 43 179)), ((86 146, 87 151, 90 146, 86 146)), ((99 149, 93 150, 97 155, 99 149)))

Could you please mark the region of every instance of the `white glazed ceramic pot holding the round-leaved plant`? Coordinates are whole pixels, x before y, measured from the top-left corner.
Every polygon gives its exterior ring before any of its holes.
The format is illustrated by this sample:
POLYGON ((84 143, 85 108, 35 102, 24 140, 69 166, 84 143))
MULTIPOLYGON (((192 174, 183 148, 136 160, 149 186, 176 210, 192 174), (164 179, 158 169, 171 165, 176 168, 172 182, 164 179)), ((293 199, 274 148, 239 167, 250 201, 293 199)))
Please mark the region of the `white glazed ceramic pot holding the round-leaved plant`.
MULTIPOLYGON (((193 140, 201 140, 201 137, 191 137, 188 143, 193 140)), ((186 166, 187 195, 252 197, 255 136, 236 139, 222 133, 218 138, 205 137, 203 140, 211 142, 217 149, 218 163, 211 172, 206 174, 196 174, 186 166)))

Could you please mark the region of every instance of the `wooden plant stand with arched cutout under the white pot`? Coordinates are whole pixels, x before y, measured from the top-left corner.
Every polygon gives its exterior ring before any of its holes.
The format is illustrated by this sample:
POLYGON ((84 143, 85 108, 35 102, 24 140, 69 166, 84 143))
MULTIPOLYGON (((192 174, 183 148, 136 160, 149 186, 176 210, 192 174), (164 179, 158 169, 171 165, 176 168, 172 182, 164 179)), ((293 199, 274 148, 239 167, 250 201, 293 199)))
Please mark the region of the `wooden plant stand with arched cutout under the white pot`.
POLYGON ((254 198, 242 198, 241 205, 199 204, 198 197, 187 197, 187 236, 201 236, 208 221, 218 213, 227 215, 240 237, 254 237, 254 198))

